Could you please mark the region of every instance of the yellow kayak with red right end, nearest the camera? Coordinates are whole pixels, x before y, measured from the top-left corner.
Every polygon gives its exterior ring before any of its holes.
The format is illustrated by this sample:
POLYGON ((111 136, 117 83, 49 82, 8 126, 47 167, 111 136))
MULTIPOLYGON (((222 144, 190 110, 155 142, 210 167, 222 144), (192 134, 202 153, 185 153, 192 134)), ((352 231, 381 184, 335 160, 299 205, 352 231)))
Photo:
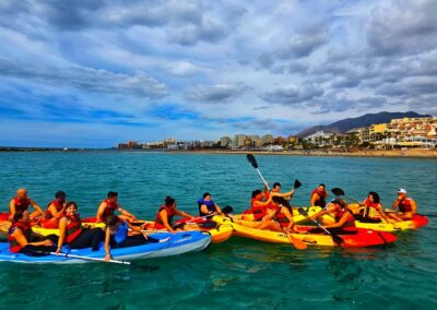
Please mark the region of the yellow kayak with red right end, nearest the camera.
MULTIPOLYGON (((233 222, 233 218, 224 216, 214 216, 213 220, 222 224, 231 224, 234 227, 234 235, 250 238, 255 240, 273 242, 273 243, 287 243, 290 239, 286 234, 271 230, 262 230, 257 228, 247 227, 233 222)), ((297 238, 308 246, 323 246, 323 247, 373 247, 382 246, 394 242, 397 237, 390 233, 377 231, 373 229, 357 228, 356 231, 347 231, 345 234, 336 234, 339 238, 333 238, 327 234, 309 234, 308 230, 315 228, 314 226, 299 226, 297 234, 290 234, 293 238, 297 238), (341 240, 341 242, 334 241, 341 240)))

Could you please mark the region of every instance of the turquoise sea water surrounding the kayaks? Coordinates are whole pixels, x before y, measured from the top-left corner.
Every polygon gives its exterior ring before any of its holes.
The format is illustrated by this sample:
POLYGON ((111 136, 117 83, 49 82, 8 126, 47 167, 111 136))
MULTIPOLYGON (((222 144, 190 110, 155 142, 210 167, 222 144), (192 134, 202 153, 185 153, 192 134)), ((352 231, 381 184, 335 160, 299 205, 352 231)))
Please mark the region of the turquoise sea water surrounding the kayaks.
MULTIPOLYGON (((437 160, 257 156, 272 184, 303 187, 306 205, 320 182, 362 200, 380 193, 391 205, 405 188, 421 213, 437 214, 437 160)), ((109 190, 141 218, 155 217, 166 195, 197 211, 204 191, 220 205, 243 211, 262 188, 244 155, 144 152, 0 153, 0 210, 25 187, 45 206, 57 190, 92 216, 109 190)), ((105 263, 24 265, 0 263, 1 309, 430 309, 437 306, 437 218, 377 249, 308 248, 298 251, 232 238, 200 253, 105 263)))

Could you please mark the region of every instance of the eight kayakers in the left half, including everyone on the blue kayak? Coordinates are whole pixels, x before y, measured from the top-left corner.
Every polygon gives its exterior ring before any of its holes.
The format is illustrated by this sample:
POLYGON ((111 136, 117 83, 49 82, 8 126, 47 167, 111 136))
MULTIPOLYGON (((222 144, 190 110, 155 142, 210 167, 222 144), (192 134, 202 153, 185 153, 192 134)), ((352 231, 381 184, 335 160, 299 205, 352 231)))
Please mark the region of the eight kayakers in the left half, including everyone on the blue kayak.
MULTIPOLYGON (((198 201, 198 206, 200 216, 222 214, 222 210, 208 192, 198 201)), ((67 194, 63 191, 56 192, 55 199, 48 203, 46 211, 43 212, 43 208, 27 196, 26 189, 19 189, 16 196, 10 201, 9 207, 9 219, 12 222, 9 228, 10 250, 13 253, 24 252, 31 255, 39 255, 46 252, 60 253, 62 246, 68 245, 70 249, 91 248, 96 251, 98 245, 105 241, 105 260, 109 260, 110 248, 160 241, 149 237, 147 233, 150 231, 145 229, 168 230, 169 233, 199 229, 194 223, 173 225, 175 215, 194 217, 177 210, 176 200, 166 196, 153 224, 134 226, 132 224, 138 223, 138 218, 121 207, 118 203, 117 192, 109 191, 107 198, 99 203, 94 219, 97 224, 104 223, 105 227, 90 228, 82 225, 78 204, 73 201, 67 202, 67 194), (29 206, 34 208, 34 212, 28 211, 29 206), (120 213, 120 215, 116 215, 115 212, 120 213), (35 224, 44 228, 59 229, 59 237, 56 235, 36 236, 32 230, 32 225, 35 224)))

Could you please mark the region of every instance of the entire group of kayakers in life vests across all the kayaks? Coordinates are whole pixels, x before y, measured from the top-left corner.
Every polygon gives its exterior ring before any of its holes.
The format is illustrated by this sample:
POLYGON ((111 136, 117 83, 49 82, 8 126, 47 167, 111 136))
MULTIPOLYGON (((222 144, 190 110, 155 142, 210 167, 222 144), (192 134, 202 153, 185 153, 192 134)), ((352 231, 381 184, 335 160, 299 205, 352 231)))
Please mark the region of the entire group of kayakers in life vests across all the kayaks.
MULTIPOLYGON (((276 182, 272 189, 267 184, 264 190, 255 190, 251 194, 250 210, 244 212, 246 219, 258 222, 256 228, 273 231, 294 233, 293 208, 290 201, 293 199, 295 189, 281 192, 281 183, 276 182), (282 224, 282 225, 281 225, 282 224)), ((385 212, 378 193, 369 192, 368 196, 359 203, 362 212, 353 214, 347 203, 335 198, 327 203, 328 192, 324 184, 319 184, 310 195, 310 205, 320 206, 321 210, 310 216, 310 219, 319 219, 329 214, 333 217, 332 223, 324 223, 322 228, 350 229, 355 227, 355 218, 367 222, 395 223, 411 219, 417 211, 416 203, 408 196, 406 190, 399 189, 398 196, 392 204, 393 212, 385 212)), ((212 200, 211 194, 205 192, 198 201, 199 216, 210 217, 223 214, 222 208, 212 200)), ((147 233, 154 230, 167 230, 176 233, 180 230, 200 229, 198 224, 190 223, 189 218, 194 216, 177 210, 176 200, 166 196, 164 204, 157 210, 153 223, 138 224, 138 218, 121 207, 118 203, 118 193, 109 191, 97 208, 94 222, 104 223, 104 227, 84 227, 78 213, 78 204, 73 201, 67 202, 63 191, 55 193, 55 199, 48 203, 46 211, 27 196, 26 189, 19 189, 16 196, 10 201, 9 219, 12 222, 9 228, 9 241, 11 252, 24 252, 38 255, 45 252, 60 253, 62 246, 68 245, 71 249, 91 248, 98 250, 102 241, 105 241, 105 260, 110 260, 110 249, 119 247, 131 247, 146 242, 160 242, 151 238, 147 233), (28 207, 34 211, 31 213, 28 207), (115 213, 118 212, 119 215, 115 213), (174 223, 174 216, 178 215, 188 220, 174 223), (32 225, 39 224, 44 228, 59 229, 59 237, 49 235, 37 237, 32 231, 32 225)), ((321 219, 323 220, 323 219, 321 219)), ((316 231, 314 231, 316 233, 316 231)))

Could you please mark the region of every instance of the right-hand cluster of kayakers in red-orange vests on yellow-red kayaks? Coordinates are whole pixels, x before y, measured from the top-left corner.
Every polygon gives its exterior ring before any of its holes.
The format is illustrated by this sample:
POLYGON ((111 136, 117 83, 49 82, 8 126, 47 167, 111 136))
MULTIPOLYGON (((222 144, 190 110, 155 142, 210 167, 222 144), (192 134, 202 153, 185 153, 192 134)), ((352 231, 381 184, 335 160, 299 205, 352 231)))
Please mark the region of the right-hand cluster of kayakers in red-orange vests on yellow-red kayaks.
MULTIPOLYGON (((279 182, 269 187, 264 187, 264 191, 255 190, 251 196, 250 210, 244 212, 245 219, 260 222, 257 228, 270 229, 275 231, 293 233, 293 210, 290 201, 293 198, 294 189, 290 192, 281 193, 281 184, 279 182), (282 222, 288 223, 283 227, 282 222)), ((327 203, 328 191, 324 184, 319 184, 310 195, 310 206, 320 206, 321 210, 311 215, 310 219, 321 219, 324 214, 331 215, 333 222, 324 223, 322 228, 327 229, 343 229, 347 227, 355 227, 355 219, 366 223, 397 223, 413 218, 417 212, 416 203, 413 199, 408 196, 405 189, 399 189, 397 199, 392 204, 391 211, 383 211, 380 199, 377 192, 369 192, 368 196, 359 202, 361 212, 354 214, 349 204, 340 198, 335 198, 327 203)))

